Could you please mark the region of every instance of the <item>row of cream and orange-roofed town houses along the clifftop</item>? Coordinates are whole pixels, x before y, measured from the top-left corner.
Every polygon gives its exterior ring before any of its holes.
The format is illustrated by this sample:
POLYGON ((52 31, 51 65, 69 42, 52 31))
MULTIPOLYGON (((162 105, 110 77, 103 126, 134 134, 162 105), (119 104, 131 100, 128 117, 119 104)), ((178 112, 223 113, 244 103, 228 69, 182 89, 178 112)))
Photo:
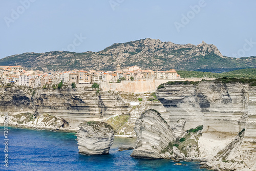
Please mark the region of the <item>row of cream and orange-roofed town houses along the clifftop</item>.
POLYGON ((0 66, 0 82, 14 83, 18 86, 27 86, 31 88, 43 87, 44 85, 58 84, 62 81, 64 84, 90 84, 100 82, 119 82, 120 80, 136 81, 138 79, 177 79, 180 76, 172 69, 169 71, 142 70, 138 66, 132 66, 121 69, 117 66, 116 71, 25 71, 21 66, 0 66))

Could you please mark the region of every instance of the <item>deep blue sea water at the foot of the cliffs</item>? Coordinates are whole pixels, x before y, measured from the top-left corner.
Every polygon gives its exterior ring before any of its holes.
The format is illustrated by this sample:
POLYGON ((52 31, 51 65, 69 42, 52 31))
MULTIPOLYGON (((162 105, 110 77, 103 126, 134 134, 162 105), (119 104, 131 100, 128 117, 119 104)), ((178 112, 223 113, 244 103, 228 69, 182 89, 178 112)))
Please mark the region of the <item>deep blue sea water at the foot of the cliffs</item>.
POLYGON ((132 151, 118 152, 123 144, 135 146, 135 139, 115 138, 109 155, 84 156, 78 153, 73 133, 9 127, 9 165, 4 166, 4 130, 0 127, 0 170, 203 170, 198 162, 147 160, 130 157, 132 151))

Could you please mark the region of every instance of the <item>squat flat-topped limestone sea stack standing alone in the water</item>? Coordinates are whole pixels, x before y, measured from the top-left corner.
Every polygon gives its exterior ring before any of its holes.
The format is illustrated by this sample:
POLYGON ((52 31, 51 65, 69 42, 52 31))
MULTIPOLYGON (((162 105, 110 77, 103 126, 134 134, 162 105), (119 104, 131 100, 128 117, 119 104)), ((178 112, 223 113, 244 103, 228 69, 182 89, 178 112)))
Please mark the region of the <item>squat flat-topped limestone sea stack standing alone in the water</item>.
POLYGON ((76 136, 80 154, 109 154, 114 141, 114 130, 111 125, 99 121, 86 121, 78 127, 76 136))

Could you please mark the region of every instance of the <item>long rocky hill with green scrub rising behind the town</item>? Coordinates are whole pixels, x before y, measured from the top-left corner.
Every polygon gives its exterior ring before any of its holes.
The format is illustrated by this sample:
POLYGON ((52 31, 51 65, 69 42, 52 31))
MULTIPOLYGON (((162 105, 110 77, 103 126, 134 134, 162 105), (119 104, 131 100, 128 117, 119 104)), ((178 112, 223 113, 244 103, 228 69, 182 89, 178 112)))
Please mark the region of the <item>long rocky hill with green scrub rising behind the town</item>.
POLYGON ((178 45, 159 39, 140 39, 113 44, 99 52, 23 53, 0 59, 0 65, 21 65, 30 70, 66 71, 114 70, 117 65, 141 66, 152 70, 177 70, 224 72, 255 68, 256 57, 231 58, 221 54, 215 45, 202 41, 199 45, 178 45))

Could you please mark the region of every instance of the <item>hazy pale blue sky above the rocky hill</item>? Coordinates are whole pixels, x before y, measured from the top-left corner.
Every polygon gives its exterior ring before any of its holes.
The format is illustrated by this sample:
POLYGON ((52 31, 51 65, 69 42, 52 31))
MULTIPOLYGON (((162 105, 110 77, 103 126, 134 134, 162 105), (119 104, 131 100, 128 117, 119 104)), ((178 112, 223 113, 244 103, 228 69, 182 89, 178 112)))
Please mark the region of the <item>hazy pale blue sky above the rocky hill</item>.
POLYGON ((142 38, 256 56, 256 1, 0 0, 0 58, 24 52, 100 51, 142 38))

